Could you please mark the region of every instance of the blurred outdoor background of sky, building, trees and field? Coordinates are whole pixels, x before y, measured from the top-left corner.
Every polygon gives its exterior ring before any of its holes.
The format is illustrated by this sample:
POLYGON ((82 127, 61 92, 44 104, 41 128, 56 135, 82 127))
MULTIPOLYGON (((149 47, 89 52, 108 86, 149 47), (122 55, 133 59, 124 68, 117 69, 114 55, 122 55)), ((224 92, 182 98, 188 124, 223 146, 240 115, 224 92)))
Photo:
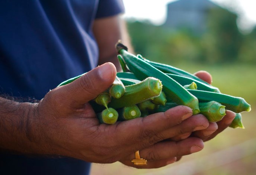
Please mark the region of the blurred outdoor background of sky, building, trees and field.
POLYGON ((136 54, 194 73, 208 71, 222 93, 243 97, 245 129, 228 128, 198 153, 159 169, 92 164, 92 175, 256 174, 256 1, 124 0, 136 54))

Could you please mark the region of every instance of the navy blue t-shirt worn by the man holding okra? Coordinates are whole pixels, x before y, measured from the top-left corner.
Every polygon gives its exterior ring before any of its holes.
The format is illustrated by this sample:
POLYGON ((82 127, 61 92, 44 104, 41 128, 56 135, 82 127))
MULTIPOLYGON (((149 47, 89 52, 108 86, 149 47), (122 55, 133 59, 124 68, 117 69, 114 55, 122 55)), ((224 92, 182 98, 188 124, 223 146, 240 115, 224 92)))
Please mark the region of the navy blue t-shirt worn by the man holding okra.
MULTIPOLYGON (((96 18, 124 12, 121 0, 1 0, 0 93, 38 100, 97 66, 96 18)), ((0 154, 0 174, 89 174, 73 158, 0 154)))

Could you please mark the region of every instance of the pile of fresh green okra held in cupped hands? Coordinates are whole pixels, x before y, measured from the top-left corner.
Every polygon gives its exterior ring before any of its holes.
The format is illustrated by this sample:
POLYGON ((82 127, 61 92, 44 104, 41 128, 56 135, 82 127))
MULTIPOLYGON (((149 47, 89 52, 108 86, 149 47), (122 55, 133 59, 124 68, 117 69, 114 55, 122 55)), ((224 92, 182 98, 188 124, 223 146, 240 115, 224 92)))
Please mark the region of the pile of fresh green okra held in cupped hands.
POLYGON ((90 101, 100 123, 115 124, 185 105, 194 115, 204 114, 209 122, 220 121, 226 110, 231 110, 236 117, 230 127, 244 128, 241 113, 250 111, 251 107, 243 98, 223 94, 182 69, 131 54, 121 42, 116 44, 116 49, 123 72, 117 72, 111 87, 90 101))

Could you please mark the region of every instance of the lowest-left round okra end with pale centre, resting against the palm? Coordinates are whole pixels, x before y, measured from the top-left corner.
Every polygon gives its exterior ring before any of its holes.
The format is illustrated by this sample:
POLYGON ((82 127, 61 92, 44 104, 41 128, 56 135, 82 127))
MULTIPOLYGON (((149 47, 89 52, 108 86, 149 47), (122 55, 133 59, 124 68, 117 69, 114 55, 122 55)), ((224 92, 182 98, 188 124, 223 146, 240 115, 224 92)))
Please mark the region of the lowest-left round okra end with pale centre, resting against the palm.
POLYGON ((101 113, 97 113, 97 118, 100 123, 115 124, 118 119, 118 112, 113 108, 108 108, 101 113))

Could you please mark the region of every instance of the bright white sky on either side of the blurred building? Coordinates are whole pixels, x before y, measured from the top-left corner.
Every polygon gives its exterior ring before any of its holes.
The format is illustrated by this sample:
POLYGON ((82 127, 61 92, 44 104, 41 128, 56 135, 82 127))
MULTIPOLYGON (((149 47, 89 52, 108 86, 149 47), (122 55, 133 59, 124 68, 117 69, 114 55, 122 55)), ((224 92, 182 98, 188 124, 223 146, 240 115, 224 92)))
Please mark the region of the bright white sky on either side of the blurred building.
MULTIPOLYGON (((166 19, 167 4, 176 0, 123 0, 125 18, 149 20, 154 25, 161 25, 166 19)), ((255 0, 210 0, 221 7, 237 13, 237 25, 240 30, 250 32, 256 25, 255 0)))

